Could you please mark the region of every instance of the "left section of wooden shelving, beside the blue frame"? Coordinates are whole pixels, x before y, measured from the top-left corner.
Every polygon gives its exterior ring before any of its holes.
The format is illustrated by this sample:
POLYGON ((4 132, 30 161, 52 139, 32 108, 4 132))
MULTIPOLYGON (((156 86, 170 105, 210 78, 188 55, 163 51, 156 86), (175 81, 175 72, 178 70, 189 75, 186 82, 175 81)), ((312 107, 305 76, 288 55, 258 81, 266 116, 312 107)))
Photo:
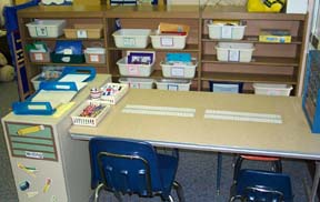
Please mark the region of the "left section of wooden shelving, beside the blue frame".
MULTIPOLYGON (((54 46, 57 41, 72 41, 72 40, 81 40, 83 48, 89 47, 103 47, 106 48, 106 20, 104 20, 104 11, 108 10, 107 7, 100 6, 79 6, 79 7, 70 7, 70 6, 39 6, 32 7, 28 9, 20 10, 18 12, 18 22, 19 22, 19 31, 21 34, 22 44, 24 47, 24 62, 27 69, 28 82, 24 82, 29 85, 29 89, 33 89, 32 83, 30 82, 33 77, 41 72, 41 68, 43 65, 54 65, 54 67, 84 67, 90 65, 94 67, 98 73, 108 73, 108 65, 106 63, 52 63, 52 59, 50 62, 31 62, 29 58, 29 52, 26 48, 27 44, 31 44, 36 41, 46 42, 46 44, 52 50, 54 50, 54 46), (59 38, 31 38, 29 36, 27 23, 34 21, 36 19, 40 20, 49 20, 49 19, 59 19, 66 20, 66 28, 72 28, 74 24, 102 24, 102 34, 100 39, 67 39, 66 36, 61 36, 59 38)), ((106 55, 104 55, 106 57, 106 55)), ((107 61, 107 58, 106 58, 107 61)), ((21 84, 22 81, 18 81, 18 84, 21 84)), ((34 90, 34 89, 33 89, 34 90)), ((33 90, 20 94, 21 100, 24 100, 30 94, 33 93, 33 90)))

